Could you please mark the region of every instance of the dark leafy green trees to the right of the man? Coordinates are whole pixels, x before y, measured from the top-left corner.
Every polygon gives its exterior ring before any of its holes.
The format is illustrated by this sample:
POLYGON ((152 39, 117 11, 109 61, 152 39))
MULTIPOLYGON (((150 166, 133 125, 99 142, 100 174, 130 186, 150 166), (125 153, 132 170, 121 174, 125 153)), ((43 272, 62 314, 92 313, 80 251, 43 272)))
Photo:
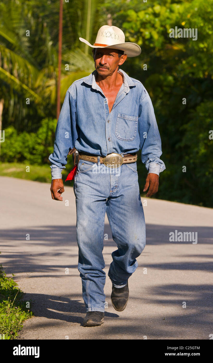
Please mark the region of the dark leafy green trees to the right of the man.
MULTIPOLYGON (((122 69, 143 83, 153 102, 166 164, 155 197, 207 207, 213 207, 212 5, 212 0, 105 4, 113 25, 124 31, 125 41, 136 42, 142 49, 122 69), (170 38, 175 26, 197 28, 197 40, 170 38)), ((139 163, 138 170, 142 190, 146 172, 139 163)))

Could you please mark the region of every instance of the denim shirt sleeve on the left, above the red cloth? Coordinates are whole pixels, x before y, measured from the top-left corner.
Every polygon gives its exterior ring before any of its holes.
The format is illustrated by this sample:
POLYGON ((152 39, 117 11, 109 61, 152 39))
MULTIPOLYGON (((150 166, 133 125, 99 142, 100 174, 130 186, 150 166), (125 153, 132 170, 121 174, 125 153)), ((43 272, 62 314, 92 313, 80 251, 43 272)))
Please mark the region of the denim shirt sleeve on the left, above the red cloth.
POLYGON ((74 147, 77 138, 76 99, 68 89, 55 130, 53 154, 49 156, 52 179, 62 178, 61 173, 67 164, 68 152, 74 147))

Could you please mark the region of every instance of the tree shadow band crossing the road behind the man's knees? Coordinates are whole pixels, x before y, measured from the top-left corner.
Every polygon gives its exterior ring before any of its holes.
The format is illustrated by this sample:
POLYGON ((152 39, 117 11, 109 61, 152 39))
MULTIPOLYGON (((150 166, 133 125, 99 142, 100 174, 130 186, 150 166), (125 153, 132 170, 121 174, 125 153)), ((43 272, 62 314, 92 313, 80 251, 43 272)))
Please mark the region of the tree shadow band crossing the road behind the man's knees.
MULTIPOLYGON (((197 232, 197 243, 212 244, 213 243, 213 228, 211 227, 181 227, 181 226, 166 226, 166 225, 146 225, 146 245, 177 245, 183 246, 192 244, 192 242, 170 242, 169 233, 174 232, 197 232)), ((73 253, 73 247, 77 247, 76 228, 75 226, 45 226, 45 227, 29 227, 20 229, 1 229, 1 257, 5 258, 4 267, 7 268, 7 273, 20 272, 59 272, 66 267, 77 269, 78 267, 78 252, 73 253), (26 240, 26 234, 29 234, 30 240, 26 240), (19 248, 21 246, 21 248, 19 248), (32 247, 36 252, 32 252, 32 247), (42 252, 42 248, 45 251, 42 252), (48 248, 48 249, 47 249, 48 248), (9 251, 8 251, 9 249, 9 251), (12 251, 11 251, 12 249, 12 251), (19 250, 21 250, 19 252, 19 250), (40 252, 41 251, 41 252, 40 252), (44 261, 47 258, 67 258, 74 259, 72 265, 46 264, 44 261)), ((108 236, 108 240, 104 240, 105 247, 113 247, 116 250, 117 245, 112 239, 112 232, 109 225, 105 225, 104 234, 108 236)), ((194 247, 194 246, 193 246, 194 247)), ((181 251, 183 252, 183 248, 181 251)), ((145 258, 146 249, 141 256, 145 258)), ((193 256, 197 256, 194 254, 193 256)), ((146 264, 145 264, 146 266, 146 264)), ((197 270, 212 270, 211 262, 187 262, 187 263, 167 263, 167 264, 148 264, 147 266, 157 269, 197 269, 197 270)), ((32 275, 32 277, 35 276, 32 275)), ((58 277, 58 274, 54 275, 58 277)))

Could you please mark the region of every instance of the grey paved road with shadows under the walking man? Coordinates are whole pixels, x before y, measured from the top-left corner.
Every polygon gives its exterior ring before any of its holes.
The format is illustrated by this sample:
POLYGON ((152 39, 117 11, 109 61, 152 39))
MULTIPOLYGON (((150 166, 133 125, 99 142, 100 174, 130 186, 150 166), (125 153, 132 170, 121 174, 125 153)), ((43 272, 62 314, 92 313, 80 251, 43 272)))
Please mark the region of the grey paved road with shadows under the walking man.
MULTIPOLYGON (((105 323, 86 328, 72 187, 65 187, 59 202, 51 199, 46 183, 0 177, 0 185, 0 260, 7 274, 16 274, 35 314, 19 339, 209 339, 213 334, 213 209, 147 198, 147 245, 129 279, 128 305, 121 313, 113 309, 107 277, 105 323), (170 242, 175 230, 197 232, 197 244, 170 242)), ((107 218, 105 233, 107 276, 116 249, 107 218)))

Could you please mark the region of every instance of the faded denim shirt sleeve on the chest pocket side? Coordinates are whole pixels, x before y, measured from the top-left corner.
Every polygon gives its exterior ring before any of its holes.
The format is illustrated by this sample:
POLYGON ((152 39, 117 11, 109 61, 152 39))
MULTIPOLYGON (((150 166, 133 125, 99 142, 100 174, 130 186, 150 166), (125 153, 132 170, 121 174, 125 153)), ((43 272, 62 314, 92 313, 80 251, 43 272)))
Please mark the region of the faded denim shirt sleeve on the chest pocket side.
POLYGON ((166 166, 160 159, 162 154, 160 134, 154 108, 145 88, 139 100, 138 121, 142 163, 145 164, 148 174, 159 175, 160 172, 166 169, 166 166))

